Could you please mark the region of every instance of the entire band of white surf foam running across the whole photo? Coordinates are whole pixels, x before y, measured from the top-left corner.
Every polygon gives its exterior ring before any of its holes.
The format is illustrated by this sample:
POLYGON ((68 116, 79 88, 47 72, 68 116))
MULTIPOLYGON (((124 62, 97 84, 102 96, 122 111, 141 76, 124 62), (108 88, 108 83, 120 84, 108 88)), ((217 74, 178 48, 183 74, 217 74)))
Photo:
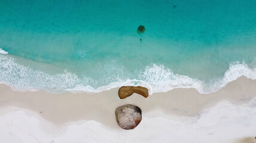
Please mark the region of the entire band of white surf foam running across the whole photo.
POLYGON ((80 79, 77 74, 68 71, 50 75, 18 64, 13 57, 0 55, 0 83, 11 86, 17 91, 101 92, 130 85, 145 86, 149 89, 149 94, 167 92, 176 88, 194 88, 201 94, 207 94, 218 91, 240 76, 256 79, 256 68, 250 68, 246 63, 230 63, 223 77, 205 83, 189 76, 175 74, 161 64, 150 64, 139 73, 138 79, 118 79, 107 85, 93 88, 88 82, 84 82, 85 80, 93 81, 90 77, 80 79), (85 83, 87 84, 84 85, 85 83))

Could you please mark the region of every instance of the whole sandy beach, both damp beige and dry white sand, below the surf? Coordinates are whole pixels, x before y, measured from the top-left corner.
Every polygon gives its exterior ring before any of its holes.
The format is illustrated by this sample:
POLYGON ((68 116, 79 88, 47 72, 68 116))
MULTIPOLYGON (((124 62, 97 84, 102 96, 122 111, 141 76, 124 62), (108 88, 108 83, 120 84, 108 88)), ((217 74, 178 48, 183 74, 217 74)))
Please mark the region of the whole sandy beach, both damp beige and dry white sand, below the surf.
POLYGON ((49 94, 0 85, 0 142, 256 142, 256 80, 239 77, 211 94, 173 89, 120 100, 117 91, 49 94), (133 130, 115 121, 124 104, 142 110, 133 130))

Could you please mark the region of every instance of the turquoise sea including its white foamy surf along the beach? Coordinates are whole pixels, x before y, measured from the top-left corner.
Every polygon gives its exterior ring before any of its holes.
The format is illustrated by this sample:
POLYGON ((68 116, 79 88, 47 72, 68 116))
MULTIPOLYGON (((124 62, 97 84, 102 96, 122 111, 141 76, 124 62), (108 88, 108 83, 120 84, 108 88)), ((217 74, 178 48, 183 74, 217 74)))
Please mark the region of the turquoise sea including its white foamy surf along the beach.
POLYGON ((19 91, 215 92, 240 76, 256 79, 255 7, 255 0, 0 0, 0 83, 19 91))

